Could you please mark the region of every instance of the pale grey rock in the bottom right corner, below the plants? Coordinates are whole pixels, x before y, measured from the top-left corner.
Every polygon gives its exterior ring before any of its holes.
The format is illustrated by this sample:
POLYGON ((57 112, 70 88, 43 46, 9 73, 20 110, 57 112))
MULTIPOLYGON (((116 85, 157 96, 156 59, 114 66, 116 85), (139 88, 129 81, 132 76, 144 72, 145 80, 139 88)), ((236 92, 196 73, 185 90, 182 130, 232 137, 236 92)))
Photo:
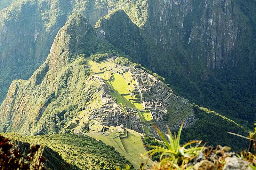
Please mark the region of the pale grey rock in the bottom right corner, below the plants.
POLYGON ((251 163, 237 157, 228 157, 225 159, 223 170, 252 170, 251 163))

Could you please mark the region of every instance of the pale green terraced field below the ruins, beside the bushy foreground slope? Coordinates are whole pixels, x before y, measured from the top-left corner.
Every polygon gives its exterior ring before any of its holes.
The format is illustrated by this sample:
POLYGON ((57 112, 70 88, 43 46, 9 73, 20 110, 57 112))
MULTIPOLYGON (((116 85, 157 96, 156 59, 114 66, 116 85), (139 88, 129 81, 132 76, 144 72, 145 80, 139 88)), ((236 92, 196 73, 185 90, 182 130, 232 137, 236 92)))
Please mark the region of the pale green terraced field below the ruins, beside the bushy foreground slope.
POLYGON ((146 152, 140 134, 133 130, 127 130, 127 138, 122 139, 120 139, 119 134, 121 134, 119 133, 119 130, 105 133, 103 135, 102 133, 87 133, 87 135, 98 140, 102 140, 102 142, 105 144, 113 146, 116 151, 128 159, 136 169, 139 169, 140 154, 146 152))

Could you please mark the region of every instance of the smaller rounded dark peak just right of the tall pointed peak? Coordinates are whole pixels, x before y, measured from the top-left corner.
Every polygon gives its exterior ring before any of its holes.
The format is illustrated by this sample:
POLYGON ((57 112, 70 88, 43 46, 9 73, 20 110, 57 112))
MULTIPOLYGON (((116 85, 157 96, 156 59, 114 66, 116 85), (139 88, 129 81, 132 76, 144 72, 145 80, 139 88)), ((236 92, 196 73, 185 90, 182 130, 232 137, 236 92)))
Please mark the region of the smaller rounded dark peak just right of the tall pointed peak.
POLYGON ((149 64, 150 56, 154 56, 154 47, 148 37, 123 10, 100 18, 95 28, 102 40, 122 49, 136 63, 149 64))

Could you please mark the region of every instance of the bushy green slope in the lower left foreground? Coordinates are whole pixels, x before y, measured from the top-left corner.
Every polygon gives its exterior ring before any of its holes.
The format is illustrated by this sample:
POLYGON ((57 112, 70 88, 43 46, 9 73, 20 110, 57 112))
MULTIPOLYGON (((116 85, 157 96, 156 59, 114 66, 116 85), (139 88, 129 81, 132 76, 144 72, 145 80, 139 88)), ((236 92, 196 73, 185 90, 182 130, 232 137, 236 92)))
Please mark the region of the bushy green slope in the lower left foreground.
MULTIPOLYGON (((115 170, 116 167, 125 169, 126 164, 131 163, 116 152, 115 148, 95 141, 86 136, 71 134, 44 135, 22 137, 18 134, 2 134, 11 141, 22 141, 30 144, 40 144, 42 147, 49 147, 60 154, 62 159, 70 164, 69 169, 97 169, 115 170), (75 142, 74 142, 75 141, 75 142)), ((51 154, 45 155, 46 159, 54 160, 51 154), (51 159, 50 159, 51 158, 51 159)), ((51 161, 52 161, 51 160, 51 161)), ((66 167, 62 162, 56 162, 54 167, 66 167)), ((132 168, 131 168, 132 169, 132 168)))

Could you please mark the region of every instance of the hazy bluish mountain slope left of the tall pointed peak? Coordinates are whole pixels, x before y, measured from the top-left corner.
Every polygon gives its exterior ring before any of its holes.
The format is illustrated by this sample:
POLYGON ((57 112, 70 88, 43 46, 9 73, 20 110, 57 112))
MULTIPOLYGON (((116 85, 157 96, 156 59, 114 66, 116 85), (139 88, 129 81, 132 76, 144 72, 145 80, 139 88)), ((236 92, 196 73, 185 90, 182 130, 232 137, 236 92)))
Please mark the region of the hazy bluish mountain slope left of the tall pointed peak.
POLYGON ((45 61, 56 33, 66 22, 66 8, 67 3, 58 1, 25 0, 0 11, 0 100, 13 79, 29 78, 45 61))

